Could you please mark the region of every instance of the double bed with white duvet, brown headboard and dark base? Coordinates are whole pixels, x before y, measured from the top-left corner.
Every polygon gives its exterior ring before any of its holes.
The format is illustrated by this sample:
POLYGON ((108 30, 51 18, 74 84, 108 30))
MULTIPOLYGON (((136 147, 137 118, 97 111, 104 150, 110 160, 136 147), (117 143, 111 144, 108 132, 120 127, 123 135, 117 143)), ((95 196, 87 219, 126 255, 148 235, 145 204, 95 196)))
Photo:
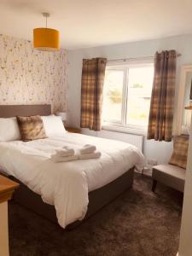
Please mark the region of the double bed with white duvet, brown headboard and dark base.
MULTIPOLYGON (((36 114, 51 114, 51 106, 0 106, 0 118, 36 114)), ((142 169, 144 163, 143 154, 130 144, 73 133, 37 142, 0 143, 0 150, 1 172, 20 183, 14 200, 62 228, 89 218, 129 189, 135 166, 142 169), (102 157, 59 164, 36 155, 39 145, 47 148, 63 143, 95 144, 102 157)))

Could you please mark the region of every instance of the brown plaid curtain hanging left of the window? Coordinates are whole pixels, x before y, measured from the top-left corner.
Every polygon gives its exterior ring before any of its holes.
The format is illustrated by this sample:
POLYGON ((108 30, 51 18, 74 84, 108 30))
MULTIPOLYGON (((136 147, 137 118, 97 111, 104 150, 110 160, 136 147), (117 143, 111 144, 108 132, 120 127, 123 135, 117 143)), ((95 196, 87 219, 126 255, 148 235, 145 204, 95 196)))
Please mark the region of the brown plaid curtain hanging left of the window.
POLYGON ((81 127, 102 129, 102 89, 107 59, 83 60, 81 82, 81 127))

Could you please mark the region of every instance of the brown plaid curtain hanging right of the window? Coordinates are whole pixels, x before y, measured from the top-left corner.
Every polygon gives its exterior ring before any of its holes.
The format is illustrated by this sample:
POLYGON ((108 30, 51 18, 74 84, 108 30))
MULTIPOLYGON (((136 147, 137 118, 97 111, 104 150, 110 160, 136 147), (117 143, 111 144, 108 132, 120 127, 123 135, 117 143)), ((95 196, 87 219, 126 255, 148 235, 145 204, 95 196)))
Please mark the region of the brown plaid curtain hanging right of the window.
POLYGON ((176 79, 175 50, 156 53, 154 58, 154 84, 148 119, 148 139, 172 141, 172 120, 176 79))

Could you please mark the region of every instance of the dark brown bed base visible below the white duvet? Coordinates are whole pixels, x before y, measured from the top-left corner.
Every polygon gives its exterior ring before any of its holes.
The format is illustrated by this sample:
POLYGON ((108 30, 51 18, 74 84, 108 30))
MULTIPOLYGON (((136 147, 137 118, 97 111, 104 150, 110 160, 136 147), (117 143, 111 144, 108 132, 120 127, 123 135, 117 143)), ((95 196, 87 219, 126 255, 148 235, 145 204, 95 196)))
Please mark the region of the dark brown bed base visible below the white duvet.
MULTIPOLYGON (((113 182, 108 183, 100 189, 93 190, 89 193, 89 205, 84 219, 90 218, 94 213, 113 201, 118 195, 122 194, 126 189, 131 187, 133 181, 134 168, 125 172, 121 177, 116 178, 113 182)), ((9 177, 20 183, 15 177, 9 177)), ((20 183, 20 187, 15 190, 13 200, 21 206, 26 207, 32 212, 36 212, 51 222, 58 224, 56 218, 55 207, 42 201, 41 196, 27 188, 25 184, 20 183)), ((67 229, 73 229, 79 225, 81 221, 75 221, 69 224, 67 229)))

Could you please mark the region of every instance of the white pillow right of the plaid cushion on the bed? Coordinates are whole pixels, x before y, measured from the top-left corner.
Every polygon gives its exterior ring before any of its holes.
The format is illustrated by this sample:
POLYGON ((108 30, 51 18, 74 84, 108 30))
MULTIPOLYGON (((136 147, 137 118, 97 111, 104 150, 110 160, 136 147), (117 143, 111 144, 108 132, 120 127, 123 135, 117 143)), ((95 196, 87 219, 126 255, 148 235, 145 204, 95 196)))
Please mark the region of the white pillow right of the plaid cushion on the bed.
POLYGON ((67 132, 62 123, 61 116, 53 114, 42 116, 42 119, 47 137, 63 136, 67 132))

